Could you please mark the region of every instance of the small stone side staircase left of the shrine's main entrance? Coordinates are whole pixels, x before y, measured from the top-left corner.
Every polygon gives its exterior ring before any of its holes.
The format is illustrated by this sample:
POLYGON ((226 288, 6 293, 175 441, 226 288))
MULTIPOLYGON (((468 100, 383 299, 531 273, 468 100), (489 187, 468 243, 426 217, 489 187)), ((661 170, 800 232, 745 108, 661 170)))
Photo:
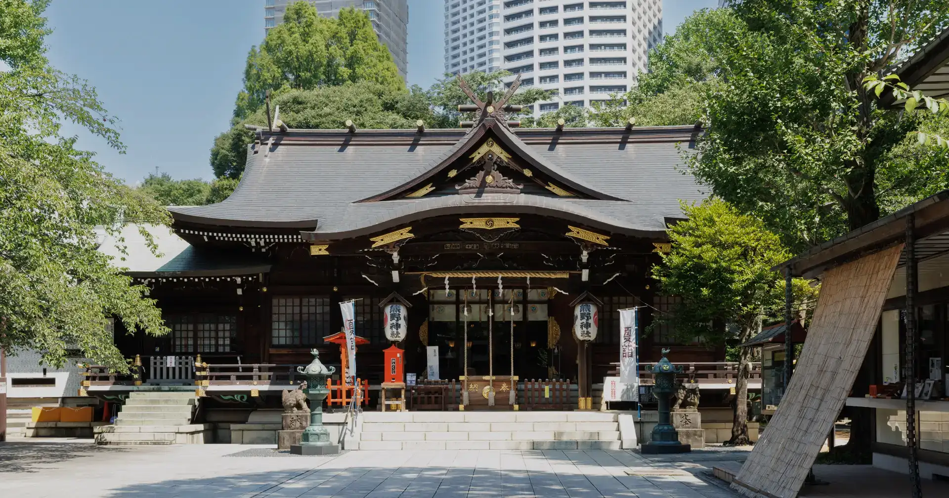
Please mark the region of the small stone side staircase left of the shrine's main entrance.
POLYGON ((95 428, 100 445, 166 445, 211 442, 211 424, 193 424, 195 391, 133 392, 115 425, 95 428))

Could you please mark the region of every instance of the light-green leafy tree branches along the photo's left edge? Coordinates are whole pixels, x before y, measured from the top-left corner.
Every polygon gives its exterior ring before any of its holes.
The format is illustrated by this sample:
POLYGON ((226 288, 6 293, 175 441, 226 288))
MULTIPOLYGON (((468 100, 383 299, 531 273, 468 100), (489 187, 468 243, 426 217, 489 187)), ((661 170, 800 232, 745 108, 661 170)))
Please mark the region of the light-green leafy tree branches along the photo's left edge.
POLYGON ((124 368, 107 317, 150 334, 168 329, 145 288, 97 251, 95 226, 167 222, 167 212, 60 135, 66 119, 123 149, 95 89, 49 65, 46 7, 0 0, 0 346, 36 348, 63 365, 75 345, 124 368))

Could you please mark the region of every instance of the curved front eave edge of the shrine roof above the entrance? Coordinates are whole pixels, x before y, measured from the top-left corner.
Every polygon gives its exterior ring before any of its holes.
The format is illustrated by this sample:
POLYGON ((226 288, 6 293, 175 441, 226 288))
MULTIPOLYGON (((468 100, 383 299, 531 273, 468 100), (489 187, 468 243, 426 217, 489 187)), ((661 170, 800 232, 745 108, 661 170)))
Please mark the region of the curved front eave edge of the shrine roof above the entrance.
MULTIPOLYGON (((347 229, 336 231, 302 230, 300 236, 303 240, 307 241, 354 239, 377 234, 381 230, 403 223, 416 222, 434 216, 476 214, 548 215, 568 222, 596 226, 610 233, 632 237, 656 238, 665 237, 666 235, 664 226, 662 228, 635 226, 621 222, 604 213, 596 212, 584 206, 572 205, 560 199, 533 196, 530 194, 519 194, 517 196, 502 194, 499 197, 516 197, 517 202, 500 200, 498 202, 484 200, 474 201, 474 195, 456 195, 424 199, 410 205, 402 205, 400 208, 392 209, 377 219, 365 222, 359 226, 347 227, 347 229)), ((664 225, 664 222, 661 220, 659 223, 664 225)))

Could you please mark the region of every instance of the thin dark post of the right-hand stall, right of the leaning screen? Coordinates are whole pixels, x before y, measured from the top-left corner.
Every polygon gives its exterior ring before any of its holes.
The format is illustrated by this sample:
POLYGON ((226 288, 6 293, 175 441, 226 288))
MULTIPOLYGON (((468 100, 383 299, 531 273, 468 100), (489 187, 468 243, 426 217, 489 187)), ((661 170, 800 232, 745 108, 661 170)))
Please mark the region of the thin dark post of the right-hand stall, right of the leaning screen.
POLYGON ((912 496, 922 496, 920 482, 920 462, 916 448, 916 215, 906 217, 906 236, 904 255, 906 259, 906 449, 909 454, 909 476, 912 482, 912 496))

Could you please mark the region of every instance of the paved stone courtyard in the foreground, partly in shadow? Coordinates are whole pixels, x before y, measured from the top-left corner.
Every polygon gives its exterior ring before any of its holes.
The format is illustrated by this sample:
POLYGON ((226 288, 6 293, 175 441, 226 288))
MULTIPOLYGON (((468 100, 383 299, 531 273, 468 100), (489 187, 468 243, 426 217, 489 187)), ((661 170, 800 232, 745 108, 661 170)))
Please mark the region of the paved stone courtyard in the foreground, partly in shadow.
MULTIPOLYGON (((226 444, 121 448, 95 446, 88 439, 14 439, 0 443, 0 497, 731 498, 737 495, 712 477, 711 468, 748 454, 713 448, 676 456, 604 450, 296 456, 272 448, 226 444)), ((805 489, 800 496, 908 496, 902 492, 908 487, 899 486, 908 484, 906 477, 892 472, 817 466, 816 473, 831 484, 805 489)), ((930 490, 929 495, 936 496, 932 491, 940 494, 942 489, 930 490)))

